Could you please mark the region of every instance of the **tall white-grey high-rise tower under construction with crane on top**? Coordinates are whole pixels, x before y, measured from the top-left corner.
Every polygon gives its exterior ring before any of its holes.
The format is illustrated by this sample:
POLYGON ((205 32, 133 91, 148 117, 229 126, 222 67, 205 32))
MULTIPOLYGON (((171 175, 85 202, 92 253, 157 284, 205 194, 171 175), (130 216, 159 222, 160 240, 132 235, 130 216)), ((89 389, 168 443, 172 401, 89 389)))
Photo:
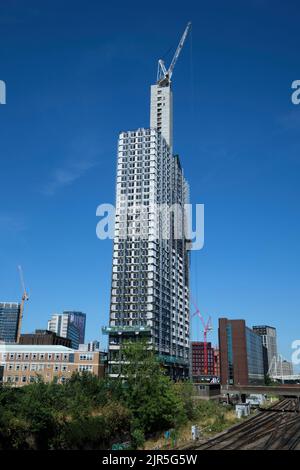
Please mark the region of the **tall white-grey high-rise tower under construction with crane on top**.
POLYGON ((109 372, 122 374, 121 343, 145 337, 173 377, 189 367, 189 252, 184 206, 189 187, 173 155, 171 66, 159 61, 151 86, 150 128, 118 143, 109 372))

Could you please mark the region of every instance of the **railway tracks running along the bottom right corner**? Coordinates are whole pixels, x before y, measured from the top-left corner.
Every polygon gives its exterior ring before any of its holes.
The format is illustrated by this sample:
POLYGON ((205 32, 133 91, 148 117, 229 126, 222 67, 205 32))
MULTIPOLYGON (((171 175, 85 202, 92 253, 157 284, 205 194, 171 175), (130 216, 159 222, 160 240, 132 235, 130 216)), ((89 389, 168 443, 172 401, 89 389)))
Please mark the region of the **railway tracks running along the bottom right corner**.
POLYGON ((252 418, 225 433, 187 448, 197 450, 300 449, 298 401, 284 399, 267 411, 259 411, 252 418))

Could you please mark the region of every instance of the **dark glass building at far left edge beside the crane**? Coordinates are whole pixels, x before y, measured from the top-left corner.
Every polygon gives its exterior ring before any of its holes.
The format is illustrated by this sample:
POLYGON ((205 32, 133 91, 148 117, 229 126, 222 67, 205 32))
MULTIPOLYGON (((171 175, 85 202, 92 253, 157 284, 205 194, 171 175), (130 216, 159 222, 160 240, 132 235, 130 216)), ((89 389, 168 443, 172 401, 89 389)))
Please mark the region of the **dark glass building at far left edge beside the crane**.
POLYGON ((17 302, 0 302, 0 341, 14 343, 17 341, 20 304, 17 302))

